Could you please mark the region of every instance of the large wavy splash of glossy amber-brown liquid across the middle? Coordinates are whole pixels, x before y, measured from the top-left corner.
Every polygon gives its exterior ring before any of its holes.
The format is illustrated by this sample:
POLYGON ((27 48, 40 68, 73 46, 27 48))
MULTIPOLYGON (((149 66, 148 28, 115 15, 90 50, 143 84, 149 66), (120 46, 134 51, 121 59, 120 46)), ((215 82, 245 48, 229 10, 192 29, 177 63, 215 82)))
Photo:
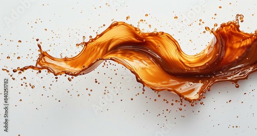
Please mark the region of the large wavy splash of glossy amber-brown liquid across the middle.
POLYGON ((174 92, 181 101, 185 99, 193 106, 212 84, 231 81, 239 87, 238 80, 257 71, 257 31, 252 34, 240 31, 238 20, 242 22, 243 15, 237 14, 235 20, 216 30, 206 27, 214 37, 196 55, 183 53, 168 33, 143 33, 125 22, 115 21, 95 38, 83 40, 82 51, 72 58, 52 57, 38 43, 40 56, 35 66, 13 72, 33 69, 79 76, 93 71, 105 60, 113 60, 127 67, 144 86, 174 92))

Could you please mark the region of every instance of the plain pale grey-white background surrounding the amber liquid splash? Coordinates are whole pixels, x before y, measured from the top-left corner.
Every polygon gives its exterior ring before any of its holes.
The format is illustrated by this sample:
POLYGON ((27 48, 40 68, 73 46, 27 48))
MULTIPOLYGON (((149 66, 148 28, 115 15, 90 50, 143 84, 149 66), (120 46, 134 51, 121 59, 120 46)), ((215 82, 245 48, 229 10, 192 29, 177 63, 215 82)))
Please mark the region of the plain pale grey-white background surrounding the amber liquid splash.
MULTIPOLYGON (((95 37, 96 32, 103 32, 115 20, 137 26, 143 19, 141 30, 157 29, 171 34, 187 54, 200 52, 211 40, 213 35, 203 33, 206 26, 212 28, 214 23, 233 20, 237 13, 245 16, 241 30, 254 32, 257 29, 257 1, 199 2, 2 0, 0 68, 10 72, 0 71, 0 88, 8 77, 10 121, 9 132, 4 132, 4 109, 0 106, 0 135, 256 135, 257 73, 239 81, 239 88, 231 82, 217 83, 205 95, 204 105, 198 103, 191 107, 184 102, 187 105, 184 107, 176 103, 179 98, 169 92, 160 92, 158 97, 145 87, 142 94, 142 84, 136 82, 135 76, 113 61, 108 68, 101 64, 95 71, 75 77, 71 82, 67 79, 69 76, 58 76, 56 80, 45 71, 36 74, 28 70, 21 75, 12 72, 18 66, 35 64, 39 54, 36 38, 50 55, 60 57, 62 53, 63 57, 70 57, 82 49, 75 46, 82 41, 82 36, 86 36, 87 41, 89 35, 95 37), (130 16, 128 20, 127 16, 130 16), (199 25, 199 19, 205 24, 199 25), (18 56, 21 59, 18 60, 18 56), (26 80, 21 80, 23 77, 26 80), (100 84, 95 83, 95 79, 100 84), (107 89, 117 84, 122 86, 118 95, 108 94, 107 89), (101 104, 103 101, 105 103, 101 104)), ((2 92, 0 103, 3 101, 2 92)))

